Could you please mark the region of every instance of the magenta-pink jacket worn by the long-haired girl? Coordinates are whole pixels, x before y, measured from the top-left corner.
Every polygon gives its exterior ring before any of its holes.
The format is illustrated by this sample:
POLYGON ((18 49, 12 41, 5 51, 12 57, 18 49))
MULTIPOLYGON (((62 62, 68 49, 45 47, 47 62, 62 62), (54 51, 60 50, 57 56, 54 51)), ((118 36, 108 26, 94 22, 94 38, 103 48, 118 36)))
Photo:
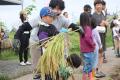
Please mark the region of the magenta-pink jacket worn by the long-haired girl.
POLYGON ((84 28, 85 35, 80 37, 80 51, 82 53, 93 52, 95 49, 95 43, 92 38, 92 29, 90 26, 84 28))

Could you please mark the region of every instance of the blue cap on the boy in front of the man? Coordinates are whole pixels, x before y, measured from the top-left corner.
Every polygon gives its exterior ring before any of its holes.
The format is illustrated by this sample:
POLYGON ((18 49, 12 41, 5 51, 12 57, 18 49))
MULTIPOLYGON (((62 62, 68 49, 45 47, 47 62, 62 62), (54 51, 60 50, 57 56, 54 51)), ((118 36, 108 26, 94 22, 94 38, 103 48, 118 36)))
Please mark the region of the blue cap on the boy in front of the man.
POLYGON ((40 17, 43 16, 55 16, 54 12, 52 11, 52 9, 50 7, 43 7, 40 11, 40 17))

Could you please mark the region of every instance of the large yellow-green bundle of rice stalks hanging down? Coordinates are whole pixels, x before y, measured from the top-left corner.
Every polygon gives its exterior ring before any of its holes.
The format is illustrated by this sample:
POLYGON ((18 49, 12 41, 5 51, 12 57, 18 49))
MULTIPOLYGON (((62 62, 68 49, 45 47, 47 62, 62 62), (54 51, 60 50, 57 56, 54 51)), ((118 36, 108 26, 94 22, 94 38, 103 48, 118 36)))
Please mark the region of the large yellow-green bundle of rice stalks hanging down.
POLYGON ((42 80, 45 80, 45 75, 50 75, 53 80, 56 80, 60 65, 65 66, 64 34, 60 33, 46 43, 45 52, 40 57, 37 65, 37 72, 40 72, 42 80))

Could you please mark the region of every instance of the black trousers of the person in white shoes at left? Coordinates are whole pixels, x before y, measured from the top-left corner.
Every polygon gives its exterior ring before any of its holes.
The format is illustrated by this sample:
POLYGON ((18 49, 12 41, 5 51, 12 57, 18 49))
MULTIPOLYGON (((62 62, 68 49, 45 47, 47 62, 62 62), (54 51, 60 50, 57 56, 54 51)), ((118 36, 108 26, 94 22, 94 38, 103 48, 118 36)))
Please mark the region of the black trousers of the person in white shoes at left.
POLYGON ((19 60, 20 62, 23 61, 24 56, 24 62, 28 61, 28 45, 29 45, 29 39, 28 40, 20 40, 20 49, 19 49, 19 60))

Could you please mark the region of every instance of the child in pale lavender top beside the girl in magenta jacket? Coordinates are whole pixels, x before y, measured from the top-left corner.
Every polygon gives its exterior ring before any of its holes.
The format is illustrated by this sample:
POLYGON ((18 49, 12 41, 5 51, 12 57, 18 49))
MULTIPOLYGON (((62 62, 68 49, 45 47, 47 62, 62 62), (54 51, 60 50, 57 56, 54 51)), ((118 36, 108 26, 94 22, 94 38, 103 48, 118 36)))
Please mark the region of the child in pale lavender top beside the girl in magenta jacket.
POLYGON ((105 75, 100 74, 101 71, 98 72, 98 68, 99 68, 99 70, 101 69, 103 54, 102 54, 102 43, 101 43, 100 35, 96 28, 95 23, 96 23, 95 20, 92 19, 91 20, 92 37, 95 42, 93 72, 96 72, 96 75, 95 75, 96 77, 104 77, 105 75))

